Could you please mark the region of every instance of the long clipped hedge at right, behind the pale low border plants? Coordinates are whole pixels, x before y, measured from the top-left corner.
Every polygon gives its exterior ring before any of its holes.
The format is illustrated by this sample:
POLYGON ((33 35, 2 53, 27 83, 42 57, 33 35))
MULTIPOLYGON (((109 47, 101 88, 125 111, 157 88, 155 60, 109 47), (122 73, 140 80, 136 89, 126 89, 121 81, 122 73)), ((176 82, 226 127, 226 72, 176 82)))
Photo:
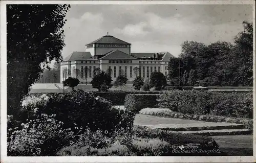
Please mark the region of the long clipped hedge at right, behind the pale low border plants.
POLYGON ((172 90, 164 91, 157 101, 161 108, 186 114, 253 117, 252 92, 172 90))

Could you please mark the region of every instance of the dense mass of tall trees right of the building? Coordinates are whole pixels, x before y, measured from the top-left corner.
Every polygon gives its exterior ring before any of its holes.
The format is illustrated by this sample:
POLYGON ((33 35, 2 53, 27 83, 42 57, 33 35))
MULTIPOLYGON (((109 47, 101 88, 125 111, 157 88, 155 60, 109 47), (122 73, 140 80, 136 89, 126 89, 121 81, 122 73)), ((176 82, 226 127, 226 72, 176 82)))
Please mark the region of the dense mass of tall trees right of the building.
MULTIPOLYGON (((253 28, 243 22, 244 31, 234 43, 217 41, 209 45, 196 41, 182 44, 181 80, 184 85, 252 86, 253 82, 253 28), (188 75, 189 74, 189 75, 188 75)), ((170 58, 168 80, 177 85, 178 58, 170 58)))

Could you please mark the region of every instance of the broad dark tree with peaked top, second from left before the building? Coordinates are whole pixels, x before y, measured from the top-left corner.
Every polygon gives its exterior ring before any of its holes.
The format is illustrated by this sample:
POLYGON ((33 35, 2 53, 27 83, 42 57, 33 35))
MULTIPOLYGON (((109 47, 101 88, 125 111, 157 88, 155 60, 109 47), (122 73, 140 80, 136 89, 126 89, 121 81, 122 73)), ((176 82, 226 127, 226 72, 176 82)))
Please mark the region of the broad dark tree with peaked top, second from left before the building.
POLYGON ((93 80, 91 81, 93 88, 97 88, 99 91, 102 90, 102 88, 103 90, 111 88, 112 87, 111 82, 112 82, 111 76, 109 76, 103 71, 101 71, 99 74, 93 77, 93 80))

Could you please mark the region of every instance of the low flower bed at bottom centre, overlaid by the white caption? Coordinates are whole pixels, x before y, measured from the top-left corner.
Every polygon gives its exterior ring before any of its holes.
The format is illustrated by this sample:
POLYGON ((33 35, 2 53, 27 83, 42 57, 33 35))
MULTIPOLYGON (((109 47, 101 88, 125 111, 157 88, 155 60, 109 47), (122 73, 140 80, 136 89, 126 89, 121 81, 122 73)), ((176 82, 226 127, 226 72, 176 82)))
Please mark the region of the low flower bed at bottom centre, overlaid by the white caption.
MULTIPOLYGON (((111 141, 110 141, 111 142, 111 141)), ((105 148, 92 148, 78 143, 65 147, 59 156, 182 156, 182 155, 221 155, 219 145, 210 137, 164 132, 135 126, 131 133, 124 133, 105 148), (180 147, 183 147, 183 152, 180 147), (194 152, 189 153, 194 147, 194 152), (220 153, 200 153, 200 151, 219 151, 220 153), (186 152, 187 151, 187 152, 186 152)))

